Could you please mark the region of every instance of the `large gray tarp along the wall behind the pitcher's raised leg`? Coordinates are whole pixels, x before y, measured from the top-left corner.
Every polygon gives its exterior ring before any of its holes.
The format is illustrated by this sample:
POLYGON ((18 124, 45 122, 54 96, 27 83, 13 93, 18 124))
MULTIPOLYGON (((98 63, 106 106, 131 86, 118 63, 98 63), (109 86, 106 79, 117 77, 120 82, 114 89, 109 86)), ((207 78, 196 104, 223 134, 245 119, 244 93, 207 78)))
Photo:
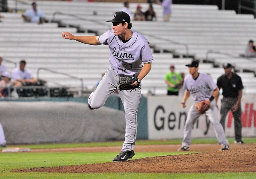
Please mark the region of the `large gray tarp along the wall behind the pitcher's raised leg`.
POLYGON ((124 140, 124 112, 76 102, 0 102, 7 143, 124 140))

